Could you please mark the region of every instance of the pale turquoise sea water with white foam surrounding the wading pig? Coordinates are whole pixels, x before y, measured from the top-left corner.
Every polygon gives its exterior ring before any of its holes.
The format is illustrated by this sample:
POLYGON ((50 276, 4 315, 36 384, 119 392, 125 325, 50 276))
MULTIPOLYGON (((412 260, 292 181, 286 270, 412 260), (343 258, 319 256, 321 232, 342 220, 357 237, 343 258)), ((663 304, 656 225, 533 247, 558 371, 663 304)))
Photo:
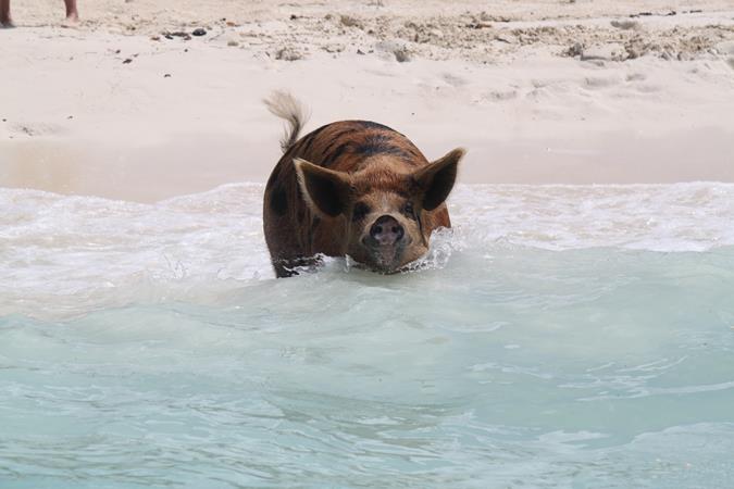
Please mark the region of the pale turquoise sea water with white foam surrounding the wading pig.
POLYGON ((262 190, 0 189, 1 488, 734 487, 734 185, 460 186, 282 280, 262 190))

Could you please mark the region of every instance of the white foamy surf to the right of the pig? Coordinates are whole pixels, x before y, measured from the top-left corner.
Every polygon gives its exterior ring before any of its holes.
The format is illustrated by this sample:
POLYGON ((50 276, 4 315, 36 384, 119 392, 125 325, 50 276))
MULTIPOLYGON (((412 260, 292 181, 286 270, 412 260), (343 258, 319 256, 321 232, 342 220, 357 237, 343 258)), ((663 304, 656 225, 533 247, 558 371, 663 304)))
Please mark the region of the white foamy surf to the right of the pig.
POLYGON ((705 251, 734 243, 734 185, 460 186, 451 216, 472 247, 705 251))

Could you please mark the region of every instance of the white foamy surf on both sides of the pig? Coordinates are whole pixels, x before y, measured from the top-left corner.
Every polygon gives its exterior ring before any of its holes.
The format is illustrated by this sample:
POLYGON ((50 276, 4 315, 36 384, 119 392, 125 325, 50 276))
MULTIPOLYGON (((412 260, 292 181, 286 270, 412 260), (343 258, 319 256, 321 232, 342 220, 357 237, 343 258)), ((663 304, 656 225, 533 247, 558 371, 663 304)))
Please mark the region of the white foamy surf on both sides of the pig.
MULTIPOLYGON (((0 189, 0 314, 216 296, 272 278, 260 184, 157 204, 0 189)), ((705 251, 734 244, 734 185, 458 186, 455 229, 412 271, 508 246, 705 251)), ((349 264, 337 265, 340 271, 349 264)))

